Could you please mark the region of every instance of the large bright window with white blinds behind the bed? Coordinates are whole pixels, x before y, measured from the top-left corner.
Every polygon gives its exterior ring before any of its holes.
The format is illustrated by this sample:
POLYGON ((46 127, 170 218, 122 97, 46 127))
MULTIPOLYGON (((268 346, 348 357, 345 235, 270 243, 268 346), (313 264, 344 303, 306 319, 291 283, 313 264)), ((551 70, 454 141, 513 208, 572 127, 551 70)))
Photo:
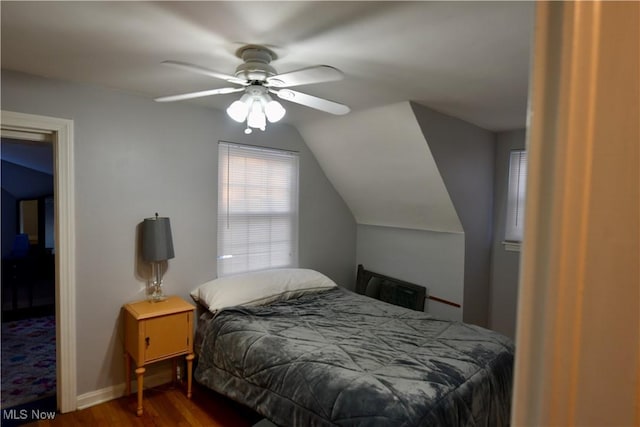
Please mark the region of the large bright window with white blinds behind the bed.
POLYGON ((220 142, 218 276, 298 263, 298 156, 220 142))

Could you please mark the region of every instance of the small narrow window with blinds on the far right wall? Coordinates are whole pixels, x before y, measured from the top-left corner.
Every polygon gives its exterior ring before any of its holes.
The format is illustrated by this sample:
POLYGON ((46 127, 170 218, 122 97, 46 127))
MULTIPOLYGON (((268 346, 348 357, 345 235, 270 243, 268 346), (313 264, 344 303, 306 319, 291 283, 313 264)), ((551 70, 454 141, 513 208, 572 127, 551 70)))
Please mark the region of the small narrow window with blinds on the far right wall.
POLYGON ((527 180, 527 152, 514 150, 509 159, 509 189, 507 193, 507 224, 505 249, 520 250, 524 231, 524 201, 527 180))

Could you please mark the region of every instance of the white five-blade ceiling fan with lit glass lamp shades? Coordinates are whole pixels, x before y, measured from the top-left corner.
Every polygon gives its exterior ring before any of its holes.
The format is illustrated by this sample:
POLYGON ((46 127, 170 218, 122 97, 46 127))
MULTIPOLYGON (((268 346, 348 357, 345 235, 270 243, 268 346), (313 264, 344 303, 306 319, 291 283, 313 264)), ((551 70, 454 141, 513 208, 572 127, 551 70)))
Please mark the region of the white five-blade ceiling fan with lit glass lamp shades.
POLYGON ((269 65, 272 60, 277 59, 277 56, 272 50, 264 46, 247 45, 238 49, 236 55, 242 58, 244 63, 238 65, 234 75, 219 73, 205 67, 181 61, 163 61, 162 63, 165 65, 216 79, 226 80, 240 87, 224 87, 179 95, 161 96, 155 98, 155 101, 183 101, 204 96, 244 92, 239 100, 233 102, 229 108, 227 108, 227 114, 239 123, 245 120, 247 121, 245 133, 251 133, 251 128, 264 130, 267 120, 274 123, 284 117, 286 112, 284 107, 282 107, 279 102, 274 101, 269 94, 274 94, 285 101, 294 102, 331 114, 343 115, 351 111, 350 108, 344 104, 288 89, 294 86, 341 80, 344 75, 337 68, 328 65, 314 65, 278 74, 275 68, 269 65))

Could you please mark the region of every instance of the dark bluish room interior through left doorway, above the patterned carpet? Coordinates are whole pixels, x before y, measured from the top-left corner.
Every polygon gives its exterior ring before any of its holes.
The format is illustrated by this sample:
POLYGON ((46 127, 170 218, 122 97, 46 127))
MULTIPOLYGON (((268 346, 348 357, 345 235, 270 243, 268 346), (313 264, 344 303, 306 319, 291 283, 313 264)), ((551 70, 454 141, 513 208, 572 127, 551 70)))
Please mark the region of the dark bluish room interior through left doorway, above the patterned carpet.
MULTIPOLYGON (((29 137, 30 135, 26 135, 29 137)), ((53 143, 2 137, 2 322, 55 314, 53 143)))

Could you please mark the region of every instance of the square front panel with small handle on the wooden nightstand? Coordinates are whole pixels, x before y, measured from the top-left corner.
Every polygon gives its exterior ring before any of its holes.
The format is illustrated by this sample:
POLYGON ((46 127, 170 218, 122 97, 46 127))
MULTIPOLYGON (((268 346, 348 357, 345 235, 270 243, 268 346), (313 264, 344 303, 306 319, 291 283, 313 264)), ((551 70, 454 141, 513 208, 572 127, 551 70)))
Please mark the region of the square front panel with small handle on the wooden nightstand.
POLYGON ((171 358, 174 355, 191 353, 191 313, 144 320, 144 362, 171 358))

